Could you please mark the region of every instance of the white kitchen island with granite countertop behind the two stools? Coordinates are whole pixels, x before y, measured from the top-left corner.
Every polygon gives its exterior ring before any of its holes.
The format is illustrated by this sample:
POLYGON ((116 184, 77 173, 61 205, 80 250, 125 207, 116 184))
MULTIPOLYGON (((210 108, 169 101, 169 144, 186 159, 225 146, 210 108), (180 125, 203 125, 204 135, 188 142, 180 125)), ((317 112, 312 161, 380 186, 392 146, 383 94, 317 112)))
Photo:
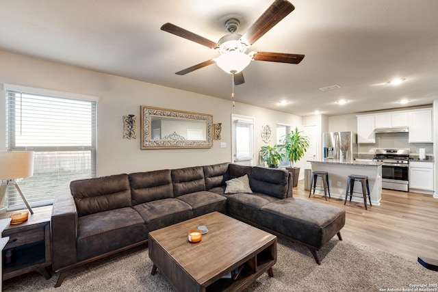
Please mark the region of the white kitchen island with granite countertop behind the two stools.
MULTIPOLYGON (((370 198, 373 205, 379 205, 382 198, 382 164, 378 161, 342 161, 337 159, 318 159, 309 161, 312 165, 312 171, 322 171, 329 173, 329 186, 332 198, 345 200, 347 177, 350 174, 359 174, 368 176, 370 184, 370 198)), ((320 179, 320 178, 319 178, 320 179)), ((322 181, 318 181, 322 185, 322 181)), ((355 189, 360 194, 353 194, 352 200, 363 202, 361 197, 361 183, 355 183, 355 189), (357 196, 357 197, 355 197, 357 196)), ((317 194, 315 191, 315 194, 317 194)), ((318 194, 324 195, 324 191, 318 194)))

